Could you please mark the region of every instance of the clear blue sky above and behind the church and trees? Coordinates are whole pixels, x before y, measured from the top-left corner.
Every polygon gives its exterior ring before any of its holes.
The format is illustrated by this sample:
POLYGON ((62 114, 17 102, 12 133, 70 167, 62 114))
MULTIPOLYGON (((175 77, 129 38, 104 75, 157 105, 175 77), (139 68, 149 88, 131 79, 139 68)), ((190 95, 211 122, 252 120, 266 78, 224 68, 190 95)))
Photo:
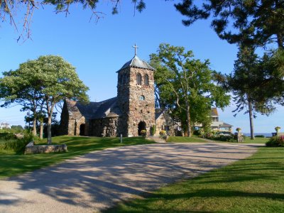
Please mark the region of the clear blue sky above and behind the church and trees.
MULTIPOLYGON (((97 11, 104 13, 97 22, 88 9, 75 5, 70 14, 55 14, 52 6, 44 6, 33 14, 31 39, 16 42, 18 33, 9 23, 1 23, 0 72, 14 70, 21 62, 40 55, 60 55, 77 68, 80 79, 89 87, 91 101, 102 101, 116 96, 116 71, 133 58, 133 44, 138 45, 138 57, 149 60, 160 43, 179 45, 192 50, 195 58, 209 59, 213 70, 229 73, 236 60, 236 45, 220 40, 210 28, 209 21, 197 21, 193 26, 182 25, 182 16, 173 7, 173 1, 147 1, 146 10, 136 11, 123 1, 119 14, 111 15, 111 4, 102 1, 97 11)), ((20 17, 20 16, 18 16, 20 17)), ((19 20, 17 20, 19 21, 19 20)), ((19 23, 21 26, 21 23, 19 23)), ((222 121, 249 132, 249 115, 233 116, 234 103, 224 111, 219 109, 222 121)), ((255 132, 271 133, 284 120, 284 107, 278 107, 271 116, 254 120, 255 132)), ((0 122, 24 125, 20 107, 0 109, 0 122)), ((284 126, 282 126, 284 129, 284 126)))

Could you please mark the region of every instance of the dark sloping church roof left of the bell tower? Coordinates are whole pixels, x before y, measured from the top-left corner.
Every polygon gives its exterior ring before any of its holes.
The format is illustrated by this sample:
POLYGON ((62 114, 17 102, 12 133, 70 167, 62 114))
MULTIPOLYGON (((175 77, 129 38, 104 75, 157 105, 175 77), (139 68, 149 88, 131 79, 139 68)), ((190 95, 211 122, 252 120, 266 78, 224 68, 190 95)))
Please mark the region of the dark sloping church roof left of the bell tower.
POLYGON ((82 116, 84 116, 85 119, 102 119, 121 115, 116 100, 117 97, 114 97, 102 102, 89 102, 89 104, 75 102, 70 99, 66 99, 65 101, 70 116, 75 119, 80 119, 82 116))

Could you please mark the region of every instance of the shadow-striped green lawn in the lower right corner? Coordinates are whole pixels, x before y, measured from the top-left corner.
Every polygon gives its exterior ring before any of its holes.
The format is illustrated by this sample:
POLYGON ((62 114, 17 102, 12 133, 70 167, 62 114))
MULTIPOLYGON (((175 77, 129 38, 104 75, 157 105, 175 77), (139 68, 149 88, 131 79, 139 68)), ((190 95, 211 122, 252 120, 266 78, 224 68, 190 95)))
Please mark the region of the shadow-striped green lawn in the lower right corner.
POLYGON ((284 148, 160 188, 107 212, 284 212, 284 148))

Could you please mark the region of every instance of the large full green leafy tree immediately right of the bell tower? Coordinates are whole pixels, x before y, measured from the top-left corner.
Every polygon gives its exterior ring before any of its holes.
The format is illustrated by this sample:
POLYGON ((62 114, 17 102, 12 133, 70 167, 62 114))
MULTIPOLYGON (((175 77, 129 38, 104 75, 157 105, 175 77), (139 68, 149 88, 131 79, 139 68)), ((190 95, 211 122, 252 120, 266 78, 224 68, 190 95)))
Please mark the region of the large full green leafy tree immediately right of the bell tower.
POLYGON ((150 57, 157 70, 155 86, 160 105, 167 104, 184 122, 187 136, 191 136, 192 124, 209 117, 212 104, 221 108, 229 104, 229 96, 214 83, 209 60, 195 60, 192 51, 165 43, 150 57))

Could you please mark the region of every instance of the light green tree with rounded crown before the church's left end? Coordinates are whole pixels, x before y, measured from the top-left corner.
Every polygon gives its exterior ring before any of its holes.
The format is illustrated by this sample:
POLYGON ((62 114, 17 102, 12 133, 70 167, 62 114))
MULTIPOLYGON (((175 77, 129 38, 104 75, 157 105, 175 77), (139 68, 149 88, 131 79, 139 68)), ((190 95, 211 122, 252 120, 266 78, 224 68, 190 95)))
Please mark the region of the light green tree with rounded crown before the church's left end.
POLYGON ((31 72, 40 80, 48 114, 48 143, 51 143, 51 119, 55 105, 65 98, 88 102, 88 87, 79 79, 75 67, 60 56, 45 55, 35 61, 37 65, 31 67, 31 72))

